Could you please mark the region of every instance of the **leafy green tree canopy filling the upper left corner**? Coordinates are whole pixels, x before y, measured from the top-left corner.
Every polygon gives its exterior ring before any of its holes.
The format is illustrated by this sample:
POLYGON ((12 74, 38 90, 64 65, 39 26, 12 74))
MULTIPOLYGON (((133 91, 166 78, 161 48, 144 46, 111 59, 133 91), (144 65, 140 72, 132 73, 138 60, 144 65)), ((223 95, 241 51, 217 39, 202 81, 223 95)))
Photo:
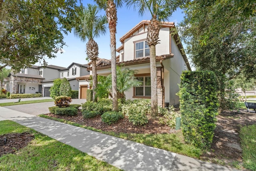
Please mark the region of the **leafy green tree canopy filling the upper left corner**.
POLYGON ((76 0, 1 0, 0 69, 20 70, 54 58, 71 32, 76 0))

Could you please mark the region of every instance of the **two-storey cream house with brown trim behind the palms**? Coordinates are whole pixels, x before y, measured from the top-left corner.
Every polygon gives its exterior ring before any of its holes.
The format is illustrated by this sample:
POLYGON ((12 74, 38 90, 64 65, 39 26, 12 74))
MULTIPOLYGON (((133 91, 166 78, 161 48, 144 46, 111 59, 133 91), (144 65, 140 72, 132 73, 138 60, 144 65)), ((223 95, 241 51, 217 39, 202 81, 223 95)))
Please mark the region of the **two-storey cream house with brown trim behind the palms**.
MULTIPOLYGON (((146 44, 149 23, 150 20, 143 20, 122 36, 122 46, 116 50, 120 54, 117 57, 117 65, 136 70, 135 76, 142 82, 141 86, 125 92, 126 99, 151 98, 150 54, 149 46, 146 44)), ((174 22, 163 22, 159 32, 160 44, 156 45, 157 92, 160 106, 164 106, 165 102, 170 105, 179 103, 176 93, 179 91, 180 75, 184 70, 191 70, 178 34, 171 36, 170 28, 174 27, 174 22)), ((90 67, 87 70, 91 71, 91 63, 88 65, 90 67)), ((111 74, 110 60, 99 59, 96 65, 98 75, 111 74)), ((77 78, 80 86, 83 85, 82 78, 77 78)))

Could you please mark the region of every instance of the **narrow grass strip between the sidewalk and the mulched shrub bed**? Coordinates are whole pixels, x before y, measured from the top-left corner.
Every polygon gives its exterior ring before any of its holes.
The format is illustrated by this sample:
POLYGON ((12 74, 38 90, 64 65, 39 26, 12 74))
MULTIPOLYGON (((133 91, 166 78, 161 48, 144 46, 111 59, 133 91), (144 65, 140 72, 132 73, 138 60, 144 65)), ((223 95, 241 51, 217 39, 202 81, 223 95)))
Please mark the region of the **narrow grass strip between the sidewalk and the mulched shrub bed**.
POLYGON ((104 133, 107 135, 112 135, 114 137, 119 137, 122 139, 127 139, 130 141, 142 143, 151 147, 156 147, 159 149, 164 149, 167 151, 171 151, 174 153, 179 153, 181 155, 186 155, 193 158, 200 158, 200 155, 202 155, 203 151, 199 148, 196 148, 192 145, 188 145, 184 142, 182 132, 176 132, 172 134, 137 134, 137 133, 114 133, 114 132, 107 132, 102 131, 99 129, 95 129, 93 127, 88 127, 85 125, 80 125, 78 123, 74 123, 71 121, 66 121, 64 119, 58 119, 55 117, 49 117, 47 115, 39 115, 40 117, 52 119, 55 121, 60 121, 63 123, 68 123, 70 125, 90 129, 92 131, 97 131, 100 133, 104 133))

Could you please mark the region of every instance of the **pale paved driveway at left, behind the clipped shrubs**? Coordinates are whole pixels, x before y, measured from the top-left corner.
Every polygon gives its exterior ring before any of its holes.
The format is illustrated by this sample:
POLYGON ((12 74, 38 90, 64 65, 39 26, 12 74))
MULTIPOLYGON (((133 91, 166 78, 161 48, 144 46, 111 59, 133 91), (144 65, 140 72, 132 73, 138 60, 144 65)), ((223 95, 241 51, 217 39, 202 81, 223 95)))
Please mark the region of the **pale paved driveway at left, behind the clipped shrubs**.
MULTIPOLYGON (((43 98, 43 97, 40 97, 43 98)), ((6 99, 6 100, 13 100, 13 99, 6 99)), ((24 100, 24 99, 21 99, 24 100)), ((30 99, 33 100, 33 99, 30 99)), ((17 99, 15 99, 17 101, 17 99)), ((24 100, 25 101, 25 100, 24 100)), ((12 101, 6 101, 12 102, 12 101)), ((6 103, 4 102, 4 103, 6 103)), ((81 104, 86 102, 86 99, 72 99, 71 104, 81 104)), ((3 103, 0 101, 0 103, 3 103)), ((43 102, 43 103, 30 103, 30 104, 23 104, 23 105, 12 105, 12 106, 4 106, 4 108, 12 109, 15 111, 20 111, 23 113, 31 114, 31 115, 40 115, 49 113, 48 107, 54 106, 54 101, 50 102, 43 102)))

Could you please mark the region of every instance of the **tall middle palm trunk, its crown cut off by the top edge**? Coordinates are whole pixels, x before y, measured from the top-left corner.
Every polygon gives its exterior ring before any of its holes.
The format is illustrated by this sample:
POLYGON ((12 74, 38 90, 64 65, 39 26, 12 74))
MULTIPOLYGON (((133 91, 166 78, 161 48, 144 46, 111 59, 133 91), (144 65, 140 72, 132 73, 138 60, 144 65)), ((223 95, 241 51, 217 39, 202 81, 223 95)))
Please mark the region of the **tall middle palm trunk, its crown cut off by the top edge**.
POLYGON ((110 51, 111 51, 111 74, 112 74, 112 99, 113 111, 118 111, 117 87, 116 87, 116 4, 113 0, 108 0, 106 9, 108 27, 110 31, 110 51))

